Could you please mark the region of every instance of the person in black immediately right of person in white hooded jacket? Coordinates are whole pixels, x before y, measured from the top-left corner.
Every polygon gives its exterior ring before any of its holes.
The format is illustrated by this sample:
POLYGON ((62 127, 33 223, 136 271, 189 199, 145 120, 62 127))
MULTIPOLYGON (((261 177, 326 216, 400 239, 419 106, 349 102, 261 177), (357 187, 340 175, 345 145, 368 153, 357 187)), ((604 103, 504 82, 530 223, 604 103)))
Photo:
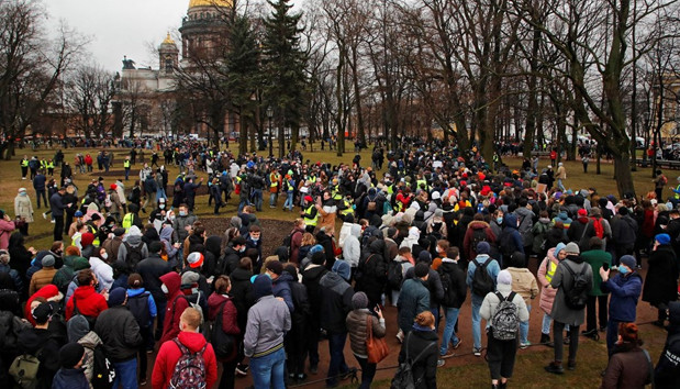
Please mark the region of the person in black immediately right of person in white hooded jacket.
POLYGON ((359 259, 357 267, 357 275, 360 274, 361 277, 357 279, 356 289, 368 296, 368 309, 370 310, 380 304, 380 296, 387 282, 387 265, 382 253, 384 253, 384 241, 374 241, 368 246, 368 253, 359 259))

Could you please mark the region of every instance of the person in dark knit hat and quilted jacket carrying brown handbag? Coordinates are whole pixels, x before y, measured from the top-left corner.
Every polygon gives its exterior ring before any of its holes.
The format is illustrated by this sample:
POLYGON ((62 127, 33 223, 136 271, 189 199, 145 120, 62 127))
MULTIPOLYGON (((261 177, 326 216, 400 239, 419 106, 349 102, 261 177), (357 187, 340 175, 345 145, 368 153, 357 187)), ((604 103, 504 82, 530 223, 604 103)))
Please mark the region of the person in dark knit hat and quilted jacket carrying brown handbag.
POLYGON ((368 327, 372 332, 372 336, 377 338, 384 337, 387 331, 384 326, 384 318, 380 307, 376 307, 374 312, 368 309, 369 300, 366 293, 359 291, 352 297, 352 312, 347 314, 346 324, 349 333, 349 345, 354 357, 361 367, 361 385, 359 389, 369 389, 376 375, 376 363, 368 362, 368 352, 366 349, 366 341, 368 338, 368 327))

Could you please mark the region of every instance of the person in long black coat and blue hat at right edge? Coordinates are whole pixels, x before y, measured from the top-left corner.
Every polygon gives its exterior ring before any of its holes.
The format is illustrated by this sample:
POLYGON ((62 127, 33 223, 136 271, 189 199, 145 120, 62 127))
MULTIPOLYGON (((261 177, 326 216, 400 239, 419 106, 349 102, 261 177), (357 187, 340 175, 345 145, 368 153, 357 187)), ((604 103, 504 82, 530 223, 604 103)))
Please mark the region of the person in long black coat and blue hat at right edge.
POLYGON ((655 236, 655 244, 649 258, 647 277, 643 288, 643 301, 658 309, 655 325, 665 326, 667 309, 670 301, 678 299, 678 259, 668 234, 655 236))

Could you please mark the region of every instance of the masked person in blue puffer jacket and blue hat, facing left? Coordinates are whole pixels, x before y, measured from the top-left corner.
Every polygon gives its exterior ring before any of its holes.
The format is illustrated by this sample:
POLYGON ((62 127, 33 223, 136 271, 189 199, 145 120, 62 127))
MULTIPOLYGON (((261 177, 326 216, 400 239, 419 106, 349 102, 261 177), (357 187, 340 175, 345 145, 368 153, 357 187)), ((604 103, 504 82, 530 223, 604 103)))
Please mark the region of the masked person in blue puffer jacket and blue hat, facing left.
POLYGON ((618 274, 610 278, 611 269, 600 268, 602 291, 611 292, 610 319, 606 325, 606 351, 612 355, 618 337, 618 323, 635 323, 637 300, 643 291, 643 278, 635 269, 637 260, 632 255, 621 257, 618 274))

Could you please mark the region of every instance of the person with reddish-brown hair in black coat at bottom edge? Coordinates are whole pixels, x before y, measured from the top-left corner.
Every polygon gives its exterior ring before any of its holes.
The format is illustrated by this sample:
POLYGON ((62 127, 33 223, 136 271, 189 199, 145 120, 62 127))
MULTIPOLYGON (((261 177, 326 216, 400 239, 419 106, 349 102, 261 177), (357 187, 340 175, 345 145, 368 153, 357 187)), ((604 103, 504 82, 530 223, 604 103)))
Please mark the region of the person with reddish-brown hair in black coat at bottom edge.
POLYGON ((420 384, 416 389, 437 387, 437 333, 434 330, 432 312, 421 312, 415 316, 413 330, 409 332, 399 352, 399 363, 413 359, 413 378, 420 384), (420 358, 416 357, 422 353, 420 358))

